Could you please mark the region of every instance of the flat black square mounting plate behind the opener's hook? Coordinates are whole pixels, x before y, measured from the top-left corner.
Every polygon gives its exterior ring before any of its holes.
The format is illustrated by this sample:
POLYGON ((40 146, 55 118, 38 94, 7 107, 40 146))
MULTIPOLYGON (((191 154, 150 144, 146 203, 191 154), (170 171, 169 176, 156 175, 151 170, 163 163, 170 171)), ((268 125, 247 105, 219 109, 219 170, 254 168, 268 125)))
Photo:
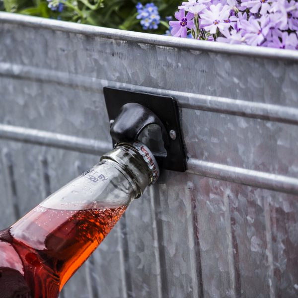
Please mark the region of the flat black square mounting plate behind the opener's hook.
MULTIPOLYGON (((167 156, 155 155, 161 169, 184 172, 186 171, 186 155, 181 134, 177 102, 169 96, 133 92, 122 89, 104 87, 103 93, 109 120, 115 120, 123 105, 135 102, 149 108, 163 123, 166 131, 176 132, 176 139, 169 138, 167 156)), ((113 140, 113 144, 116 142, 113 140)))

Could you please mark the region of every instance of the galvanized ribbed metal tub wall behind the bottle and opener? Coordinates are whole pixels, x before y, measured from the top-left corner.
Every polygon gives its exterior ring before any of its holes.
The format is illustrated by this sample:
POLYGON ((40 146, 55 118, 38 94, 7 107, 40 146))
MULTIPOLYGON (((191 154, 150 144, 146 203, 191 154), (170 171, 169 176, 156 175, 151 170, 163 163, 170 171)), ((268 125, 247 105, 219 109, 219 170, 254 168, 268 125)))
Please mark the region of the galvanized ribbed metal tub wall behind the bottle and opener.
POLYGON ((188 153, 61 297, 298 296, 298 54, 0 13, 0 228, 111 148, 103 87, 175 97, 188 153))

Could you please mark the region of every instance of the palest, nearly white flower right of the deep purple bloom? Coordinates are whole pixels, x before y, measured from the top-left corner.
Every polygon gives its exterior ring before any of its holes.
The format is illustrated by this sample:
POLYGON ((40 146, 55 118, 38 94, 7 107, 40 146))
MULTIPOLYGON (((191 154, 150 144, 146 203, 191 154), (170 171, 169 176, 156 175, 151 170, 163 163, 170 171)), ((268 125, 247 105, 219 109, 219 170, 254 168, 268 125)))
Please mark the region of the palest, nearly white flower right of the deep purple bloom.
POLYGON ((230 8, 227 5, 222 6, 221 3, 217 5, 210 5, 210 10, 204 9, 201 17, 201 27, 211 34, 215 34, 217 28, 223 33, 231 24, 229 17, 230 8))

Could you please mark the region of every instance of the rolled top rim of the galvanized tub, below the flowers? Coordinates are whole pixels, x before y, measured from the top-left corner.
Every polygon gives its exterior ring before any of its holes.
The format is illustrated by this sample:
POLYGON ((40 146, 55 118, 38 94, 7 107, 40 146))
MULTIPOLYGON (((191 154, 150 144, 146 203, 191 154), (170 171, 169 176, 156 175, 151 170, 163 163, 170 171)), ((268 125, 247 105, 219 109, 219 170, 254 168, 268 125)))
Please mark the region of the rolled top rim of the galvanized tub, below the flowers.
POLYGON ((97 36, 102 38, 145 43, 156 46, 182 48, 196 51, 208 51, 230 55, 244 55, 267 59, 282 59, 298 61, 298 53, 294 50, 281 50, 265 47, 253 47, 246 45, 231 45, 217 42, 207 42, 186 38, 169 37, 156 34, 125 31, 91 25, 83 25, 72 22, 64 22, 53 19, 39 18, 34 16, 0 12, 0 22, 14 23, 33 28, 45 28, 72 32, 83 35, 97 36))

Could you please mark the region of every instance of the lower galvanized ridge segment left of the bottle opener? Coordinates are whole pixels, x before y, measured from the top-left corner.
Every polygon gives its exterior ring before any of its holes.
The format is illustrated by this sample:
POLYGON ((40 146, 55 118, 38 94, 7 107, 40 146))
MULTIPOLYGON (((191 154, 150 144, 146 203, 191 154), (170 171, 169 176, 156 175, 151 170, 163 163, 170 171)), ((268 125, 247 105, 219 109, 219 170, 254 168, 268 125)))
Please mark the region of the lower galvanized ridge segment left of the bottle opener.
POLYGON ((112 142, 78 138, 38 129, 0 124, 0 139, 99 154, 112 149, 112 142))

